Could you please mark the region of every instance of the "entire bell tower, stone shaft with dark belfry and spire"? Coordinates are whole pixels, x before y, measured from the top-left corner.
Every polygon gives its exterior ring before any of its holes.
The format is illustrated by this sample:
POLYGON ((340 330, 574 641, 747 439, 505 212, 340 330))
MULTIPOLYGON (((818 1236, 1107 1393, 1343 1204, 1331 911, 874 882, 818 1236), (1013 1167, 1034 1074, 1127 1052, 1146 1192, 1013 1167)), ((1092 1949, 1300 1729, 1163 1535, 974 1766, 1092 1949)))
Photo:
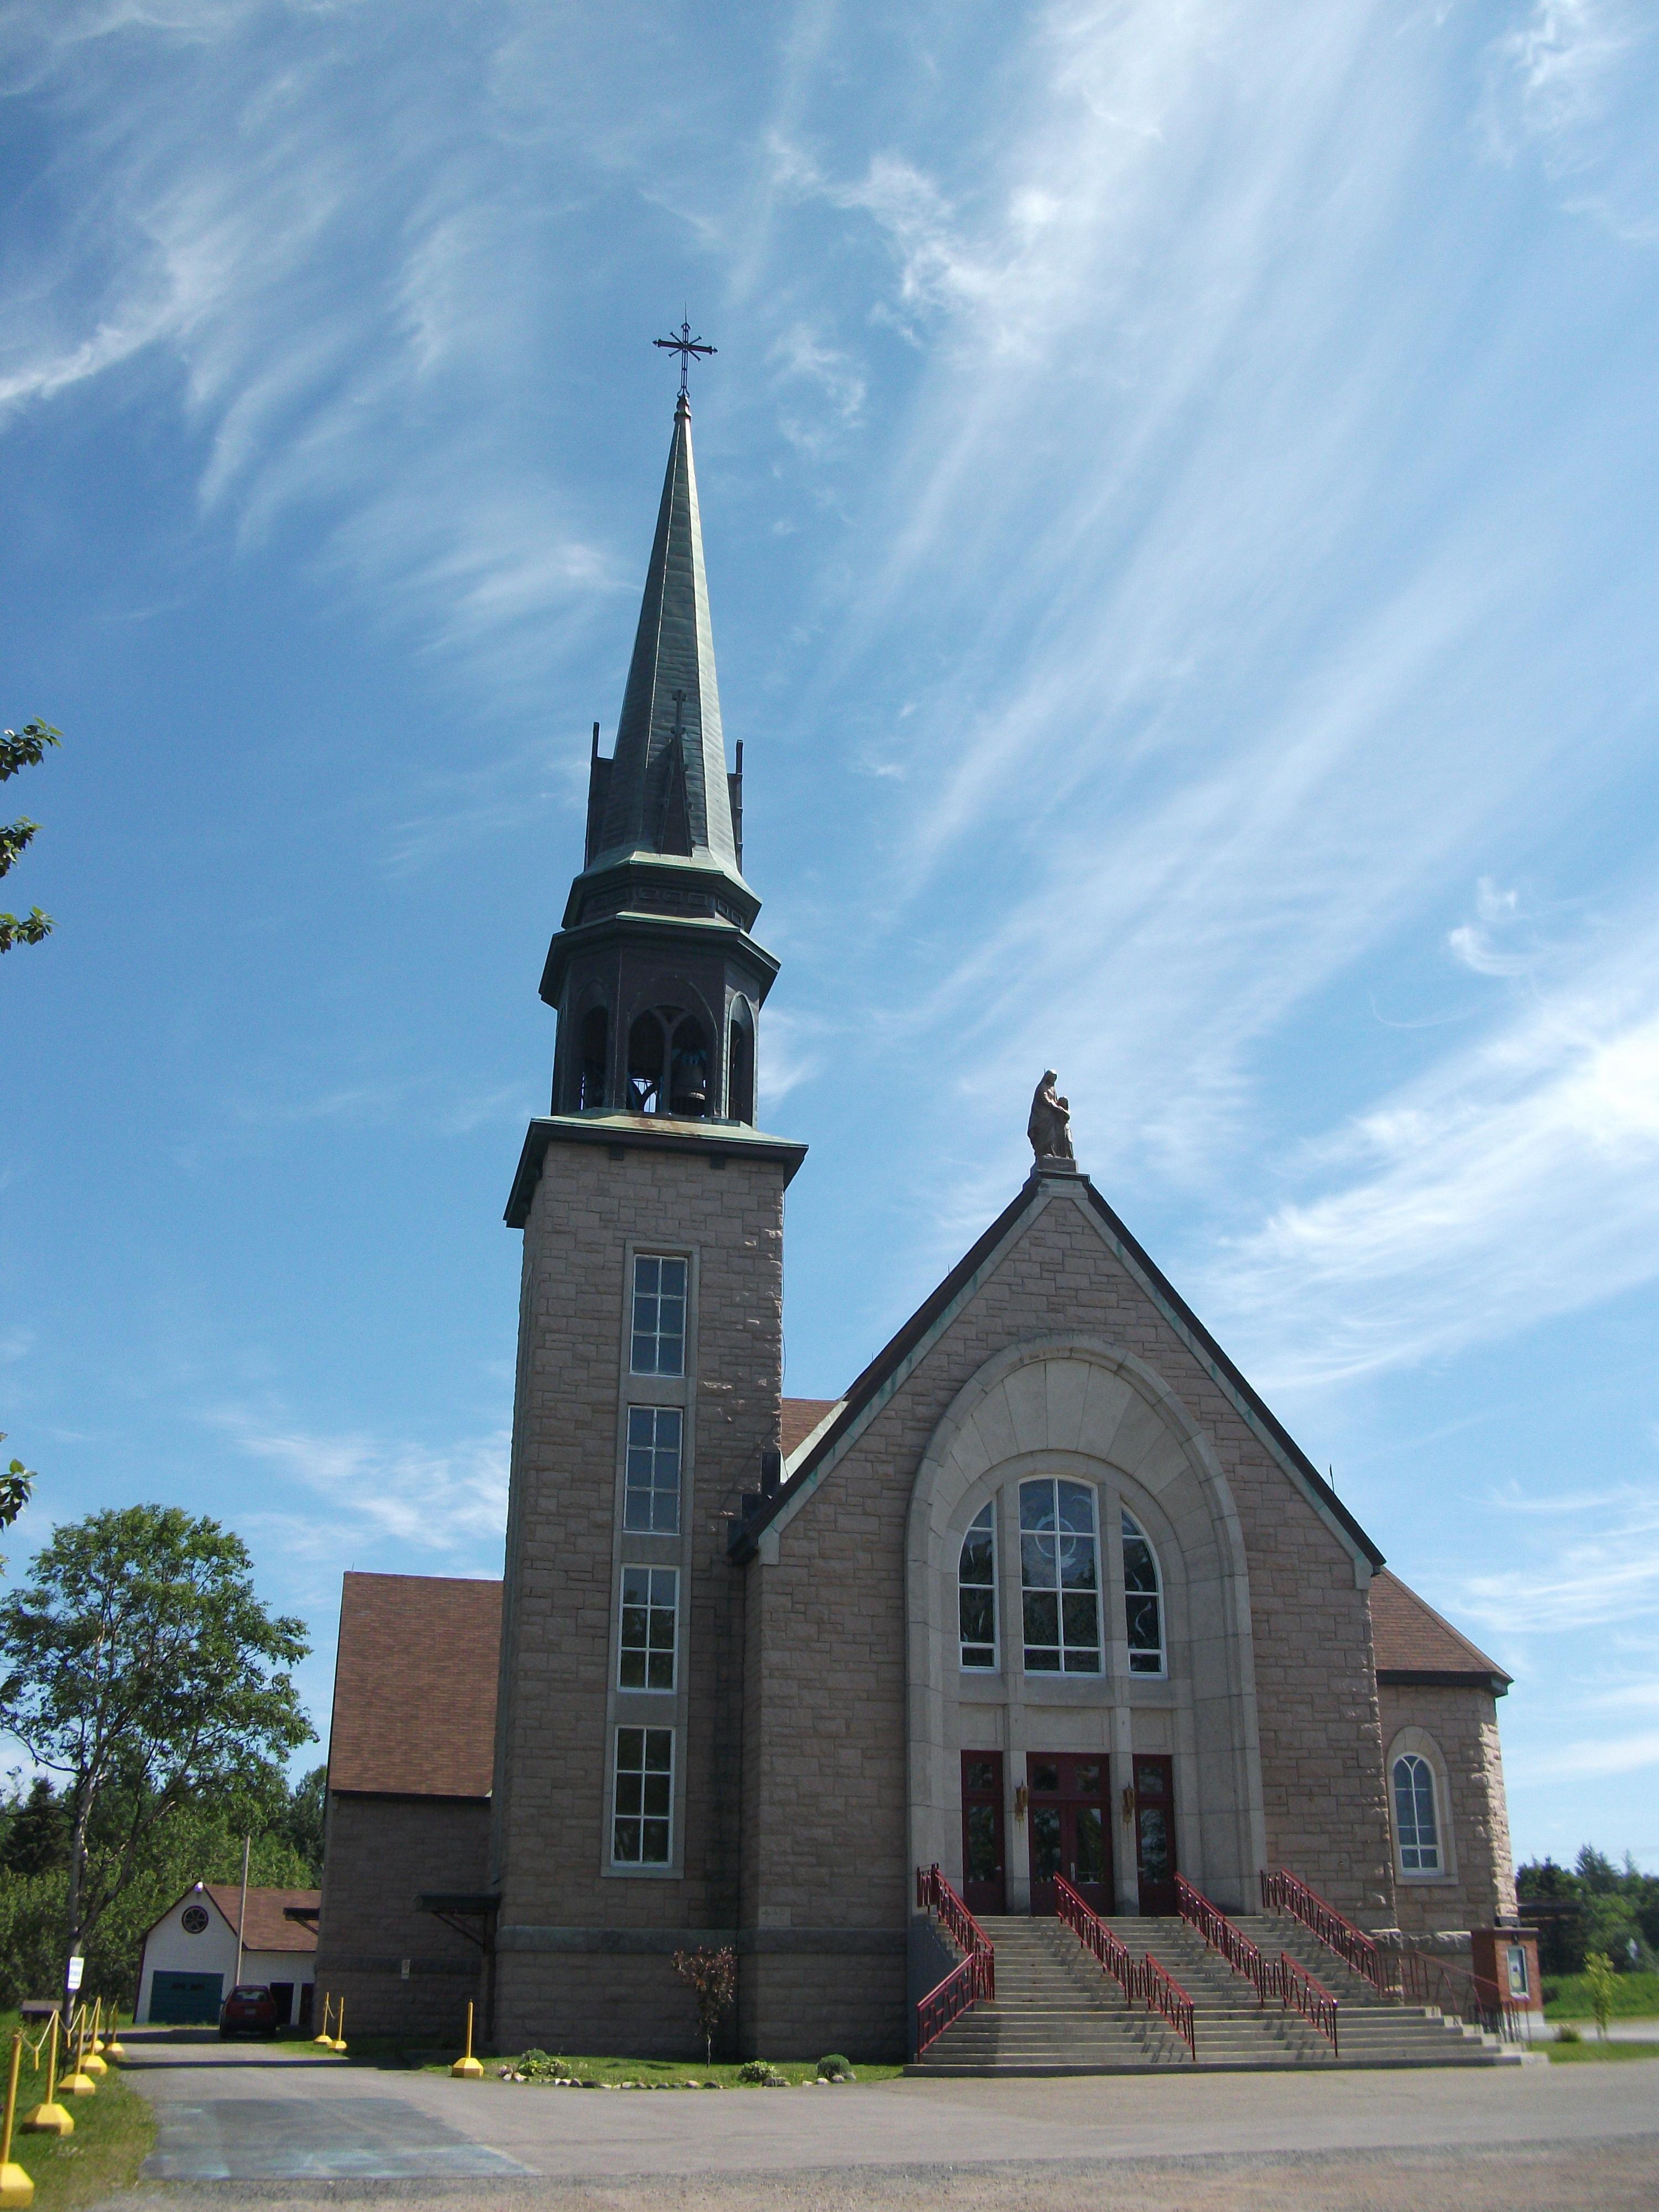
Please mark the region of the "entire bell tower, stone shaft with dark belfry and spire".
POLYGON ((507 1206, 524 1272, 491 1792, 502 2048, 701 2048, 672 1958, 739 1922, 728 1542, 779 1480, 783 1192, 805 1157, 754 1126, 776 960, 750 936, 741 794, 681 383, 615 754, 595 732, 542 973, 551 1113, 507 1206))

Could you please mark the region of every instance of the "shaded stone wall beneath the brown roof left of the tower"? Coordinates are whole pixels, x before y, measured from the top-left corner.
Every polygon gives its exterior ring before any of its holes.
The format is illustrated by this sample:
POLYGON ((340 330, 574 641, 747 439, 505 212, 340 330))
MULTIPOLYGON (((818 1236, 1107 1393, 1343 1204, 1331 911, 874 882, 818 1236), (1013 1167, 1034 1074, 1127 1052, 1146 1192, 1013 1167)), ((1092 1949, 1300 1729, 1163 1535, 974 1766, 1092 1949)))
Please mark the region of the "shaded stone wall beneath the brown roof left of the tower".
POLYGON ((330 1796, 316 1922, 319 2031, 327 1993, 336 2004, 345 2000, 347 2042, 434 2035, 460 2048, 467 2000, 482 2004, 484 1995, 482 1953, 418 1911, 416 1893, 478 1891, 487 1858, 484 1798, 330 1796))

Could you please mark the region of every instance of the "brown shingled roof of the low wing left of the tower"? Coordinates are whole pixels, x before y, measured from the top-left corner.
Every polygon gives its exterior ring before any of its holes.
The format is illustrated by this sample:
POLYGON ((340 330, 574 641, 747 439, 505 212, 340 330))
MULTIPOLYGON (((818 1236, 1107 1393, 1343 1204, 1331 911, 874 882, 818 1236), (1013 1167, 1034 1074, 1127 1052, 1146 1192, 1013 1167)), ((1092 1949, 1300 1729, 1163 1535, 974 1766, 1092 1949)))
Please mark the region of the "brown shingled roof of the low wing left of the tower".
POLYGON ((347 1575, 330 1790, 489 1796, 500 1644, 500 1582, 347 1575))

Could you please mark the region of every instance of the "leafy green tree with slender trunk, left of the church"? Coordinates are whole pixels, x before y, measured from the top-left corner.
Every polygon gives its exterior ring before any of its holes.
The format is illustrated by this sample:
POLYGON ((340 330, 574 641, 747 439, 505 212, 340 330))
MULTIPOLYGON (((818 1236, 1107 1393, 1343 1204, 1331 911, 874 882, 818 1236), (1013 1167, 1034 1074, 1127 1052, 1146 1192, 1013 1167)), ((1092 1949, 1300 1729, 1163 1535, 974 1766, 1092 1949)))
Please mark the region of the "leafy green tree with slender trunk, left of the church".
POLYGON ((69 1781, 60 1960, 181 1807, 241 1825, 270 1805, 274 1761, 312 1736, 288 1674, 305 1652, 303 1621, 265 1613, 248 1548, 215 1520, 126 1506, 53 1531, 0 1601, 0 1728, 69 1781))

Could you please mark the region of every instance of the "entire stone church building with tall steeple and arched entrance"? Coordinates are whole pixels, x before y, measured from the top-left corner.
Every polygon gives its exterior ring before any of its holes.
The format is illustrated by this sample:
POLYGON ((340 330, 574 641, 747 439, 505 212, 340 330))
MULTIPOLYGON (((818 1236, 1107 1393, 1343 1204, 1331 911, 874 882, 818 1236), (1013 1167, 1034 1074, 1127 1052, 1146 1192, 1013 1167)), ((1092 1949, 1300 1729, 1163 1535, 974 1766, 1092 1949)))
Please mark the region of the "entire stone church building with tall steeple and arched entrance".
MULTIPOLYGON (((542 971, 551 1113, 500 1584, 347 1575, 316 1986, 356 2033, 902 2057, 1062 1885, 1115 1924, 1287 1869, 1396 1947, 1513 1922, 1504 1672, 1376 1540, 1071 1157, 834 1400, 783 1383, 783 1199, 684 389, 611 759, 542 971), (940 1964, 942 1960, 942 1964, 940 1964)), ((1035 1071, 1033 1071, 1035 1073, 1035 1071)))

